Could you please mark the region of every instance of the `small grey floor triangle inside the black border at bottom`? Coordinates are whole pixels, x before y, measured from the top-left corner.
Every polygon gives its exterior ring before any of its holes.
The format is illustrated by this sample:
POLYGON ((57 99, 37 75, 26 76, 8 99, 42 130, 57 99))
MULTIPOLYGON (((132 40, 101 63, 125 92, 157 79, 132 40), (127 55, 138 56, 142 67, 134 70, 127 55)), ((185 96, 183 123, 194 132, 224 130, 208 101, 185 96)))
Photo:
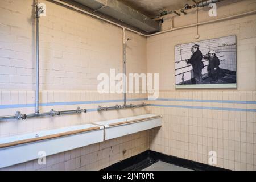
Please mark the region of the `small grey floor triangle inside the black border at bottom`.
POLYGON ((192 171, 184 167, 175 166, 174 164, 158 161, 142 171, 192 171))

